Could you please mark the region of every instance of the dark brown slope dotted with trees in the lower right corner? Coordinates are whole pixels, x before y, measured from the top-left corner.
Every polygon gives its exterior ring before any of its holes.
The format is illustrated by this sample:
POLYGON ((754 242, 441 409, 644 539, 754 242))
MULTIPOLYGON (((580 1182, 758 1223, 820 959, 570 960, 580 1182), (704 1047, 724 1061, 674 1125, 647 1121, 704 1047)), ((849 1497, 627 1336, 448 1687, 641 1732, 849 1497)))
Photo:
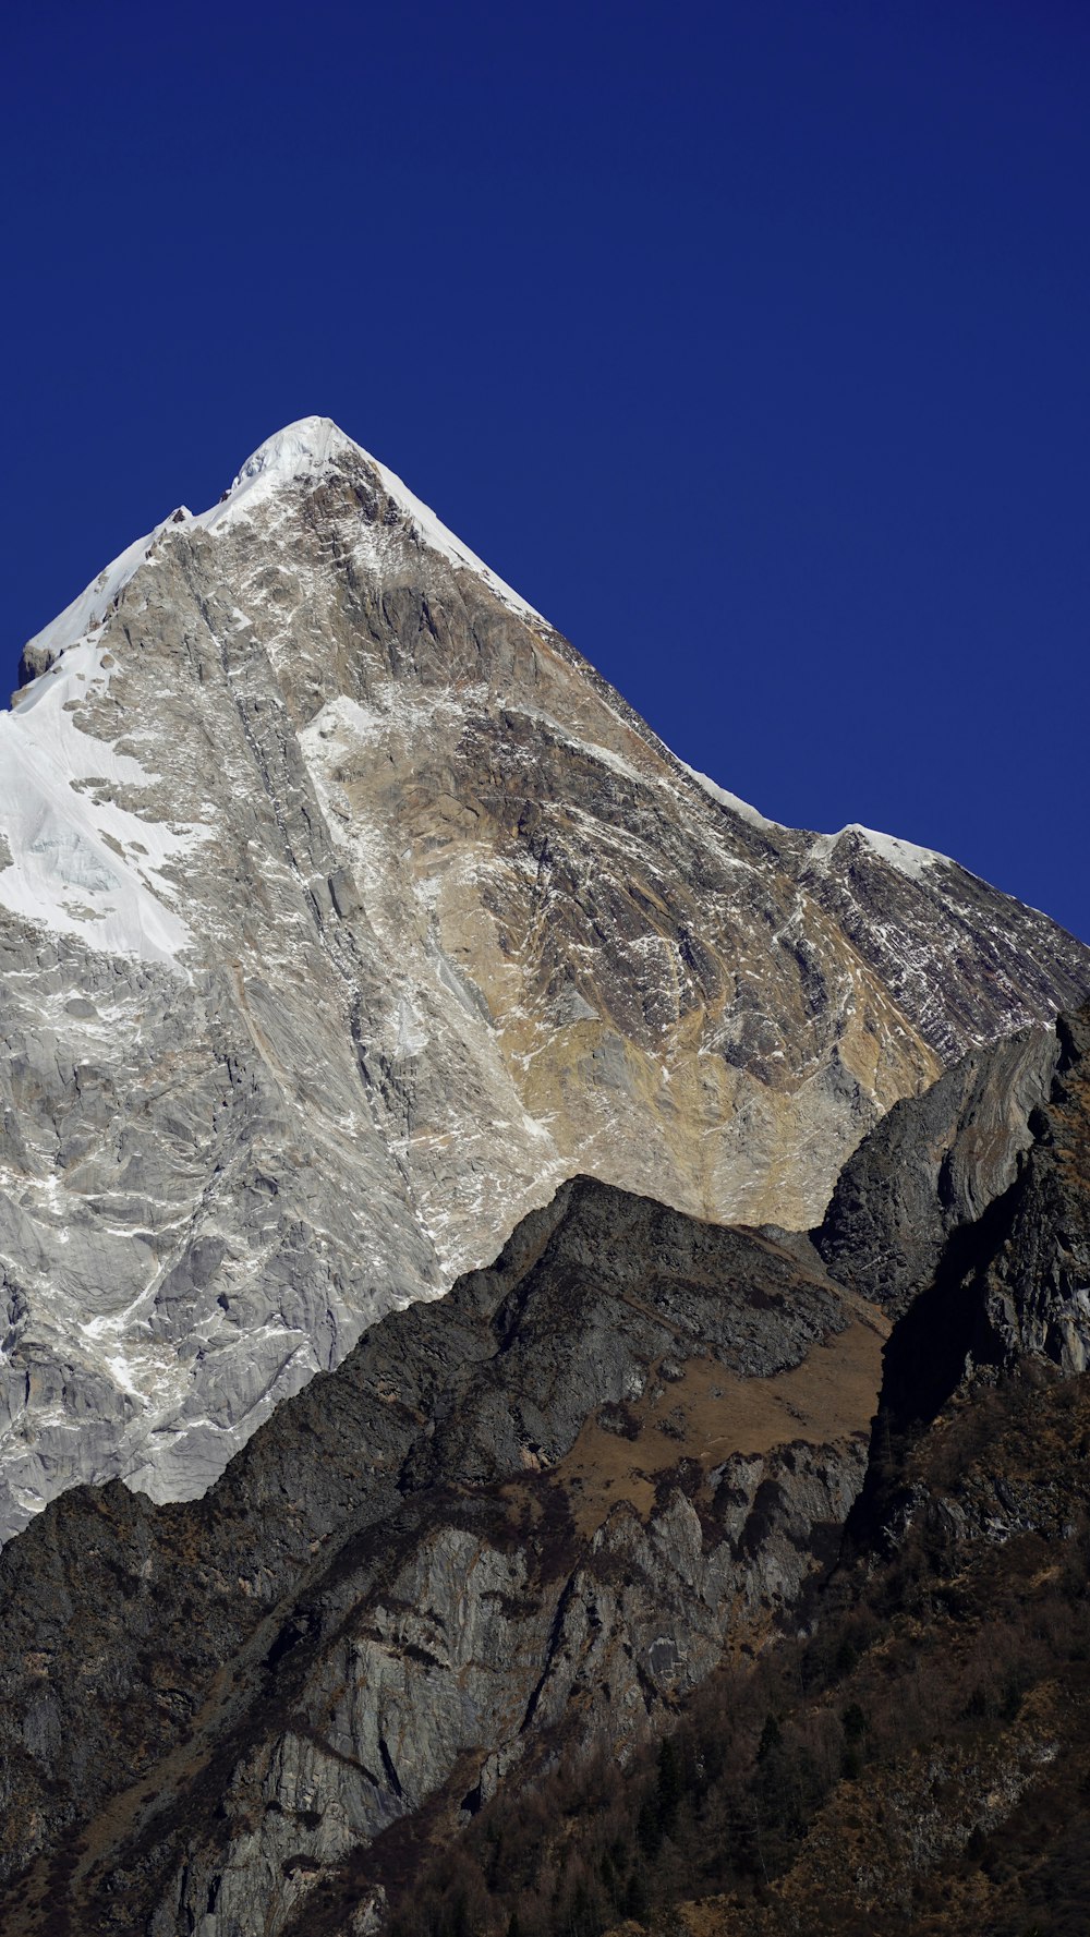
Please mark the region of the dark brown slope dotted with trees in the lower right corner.
POLYGON ((916 1447, 894 1553, 798 1637, 623 1767, 567 1753, 455 1836, 389 1830, 292 1937, 350 1937, 368 1902, 397 1937, 1084 1937, 1088 1460, 1084 1377, 978 1389, 916 1447))

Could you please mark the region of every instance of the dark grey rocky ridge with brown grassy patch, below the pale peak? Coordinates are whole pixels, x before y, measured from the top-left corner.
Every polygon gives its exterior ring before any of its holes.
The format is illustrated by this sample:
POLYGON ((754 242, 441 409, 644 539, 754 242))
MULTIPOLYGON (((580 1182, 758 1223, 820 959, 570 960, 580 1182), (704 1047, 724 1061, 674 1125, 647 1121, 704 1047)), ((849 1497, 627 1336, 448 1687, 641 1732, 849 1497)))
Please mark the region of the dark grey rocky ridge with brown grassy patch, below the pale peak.
POLYGON ((0 1559, 4 1931, 273 1937, 430 1798, 623 1753, 831 1552, 881 1337, 769 1238, 581 1182, 203 1501, 54 1501, 0 1559))

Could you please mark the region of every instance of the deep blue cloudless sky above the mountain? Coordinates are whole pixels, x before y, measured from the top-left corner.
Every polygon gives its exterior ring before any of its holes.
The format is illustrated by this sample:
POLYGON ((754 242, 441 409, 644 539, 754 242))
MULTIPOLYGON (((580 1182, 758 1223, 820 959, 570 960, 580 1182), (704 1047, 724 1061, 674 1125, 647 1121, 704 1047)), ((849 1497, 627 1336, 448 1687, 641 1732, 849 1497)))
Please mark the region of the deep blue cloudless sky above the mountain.
POLYGON ((23 637, 335 416, 693 765, 1090 939, 1090 10, 39 0, 23 637))

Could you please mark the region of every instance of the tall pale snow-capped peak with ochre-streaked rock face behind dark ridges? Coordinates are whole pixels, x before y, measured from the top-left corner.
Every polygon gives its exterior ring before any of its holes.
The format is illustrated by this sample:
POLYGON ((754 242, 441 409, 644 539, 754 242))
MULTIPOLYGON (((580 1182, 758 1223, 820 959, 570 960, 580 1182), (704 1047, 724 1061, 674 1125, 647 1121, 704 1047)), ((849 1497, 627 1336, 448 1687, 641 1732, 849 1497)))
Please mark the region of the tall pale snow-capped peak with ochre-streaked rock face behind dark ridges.
POLYGON ((333 424, 25 649, 0 723, 0 1532, 201 1493, 589 1174, 807 1228, 1090 990, 943 856, 685 769, 333 424))

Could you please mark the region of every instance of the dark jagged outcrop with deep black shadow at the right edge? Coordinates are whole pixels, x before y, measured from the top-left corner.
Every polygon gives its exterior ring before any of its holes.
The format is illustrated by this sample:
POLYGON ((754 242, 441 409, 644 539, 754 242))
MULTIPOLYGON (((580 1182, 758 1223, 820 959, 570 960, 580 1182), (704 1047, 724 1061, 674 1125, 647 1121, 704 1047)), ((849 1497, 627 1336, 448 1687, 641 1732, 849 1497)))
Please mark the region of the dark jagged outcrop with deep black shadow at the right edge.
POLYGON ((877 1433, 1090 1346, 1090 1009, 970 1056, 850 1158, 815 1247, 893 1315, 877 1433))

